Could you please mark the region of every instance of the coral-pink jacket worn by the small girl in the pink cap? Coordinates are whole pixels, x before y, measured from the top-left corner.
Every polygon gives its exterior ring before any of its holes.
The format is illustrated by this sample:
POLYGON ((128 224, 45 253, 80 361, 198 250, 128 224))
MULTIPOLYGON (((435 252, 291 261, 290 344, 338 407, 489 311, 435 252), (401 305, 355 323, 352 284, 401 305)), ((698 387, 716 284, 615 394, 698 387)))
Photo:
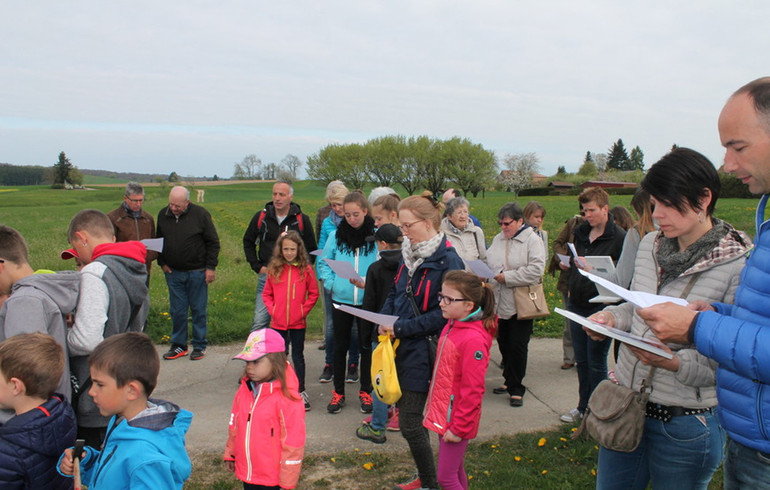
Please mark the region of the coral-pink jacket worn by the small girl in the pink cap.
POLYGON ((243 482, 297 486, 305 453, 305 406, 297 391, 297 375, 288 363, 286 382, 296 400, 283 395, 277 380, 253 388, 247 377, 241 379, 224 460, 235 461, 235 476, 243 482))

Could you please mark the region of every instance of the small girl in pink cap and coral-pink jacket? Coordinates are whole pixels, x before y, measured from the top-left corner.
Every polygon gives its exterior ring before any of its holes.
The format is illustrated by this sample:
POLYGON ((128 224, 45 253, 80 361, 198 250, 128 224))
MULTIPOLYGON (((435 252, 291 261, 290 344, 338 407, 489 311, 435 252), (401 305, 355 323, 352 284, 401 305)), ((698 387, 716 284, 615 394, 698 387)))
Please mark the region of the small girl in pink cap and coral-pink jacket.
POLYGON ((294 488, 305 453, 305 410, 285 341, 251 332, 240 354, 245 375, 233 400, 224 461, 245 490, 294 488))

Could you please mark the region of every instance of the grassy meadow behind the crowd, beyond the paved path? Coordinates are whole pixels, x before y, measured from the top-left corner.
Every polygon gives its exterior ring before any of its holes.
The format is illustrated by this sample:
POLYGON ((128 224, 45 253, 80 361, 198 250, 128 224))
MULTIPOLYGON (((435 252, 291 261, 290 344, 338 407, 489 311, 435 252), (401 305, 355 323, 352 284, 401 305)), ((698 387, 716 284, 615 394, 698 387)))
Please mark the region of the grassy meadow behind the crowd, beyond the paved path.
MULTIPOLYGON (((190 187, 193 189, 192 187, 190 187)), ((153 216, 168 203, 168 185, 146 188, 144 208, 153 216)), ((219 256, 216 281, 209 288, 209 340, 222 343, 245 338, 253 315, 256 275, 243 254, 243 233, 255 212, 271 199, 272 184, 229 184, 206 187, 204 206, 211 212, 219 233, 222 250, 219 256)), ((365 189, 368 191, 368 189, 365 189)), ((53 270, 74 267, 72 261, 62 261, 59 252, 68 248, 66 231, 69 220, 79 210, 96 208, 108 212, 122 201, 122 187, 91 186, 89 190, 53 190, 44 186, 0 187, 0 223, 18 229, 30 248, 30 261, 34 268, 53 270)), ((325 204, 325 186, 313 181, 295 185, 294 201, 315 221, 316 210, 325 204)), ((195 192, 192 192, 193 197, 195 192)), ((471 213, 483 225, 487 241, 496 234, 497 211, 513 199, 506 192, 487 192, 471 198, 471 213)), ((529 198, 519 199, 526 204, 529 198)), ((566 219, 577 210, 575 196, 545 196, 537 200, 546 208, 544 227, 551 239, 555 238, 566 219)), ((628 206, 630 196, 612 196, 611 206, 628 206)), ((717 203, 716 215, 732 223, 736 228, 753 235, 754 199, 724 199, 717 203)), ((548 302, 553 309, 560 306, 561 297, 555 289, 556 279, 545 278, 548 302)), ((168 292, 160 268, 152 268, 150 283, 152 308, 148 321, 148 334, 158 342, 170 333, 168 316, 168 292)), ((321 308, 317 307, 308 322, 309 338, 321 335, 321 308)), ((558 337, 563 320, 552 314, 536 320, 535 335, 558 337)))

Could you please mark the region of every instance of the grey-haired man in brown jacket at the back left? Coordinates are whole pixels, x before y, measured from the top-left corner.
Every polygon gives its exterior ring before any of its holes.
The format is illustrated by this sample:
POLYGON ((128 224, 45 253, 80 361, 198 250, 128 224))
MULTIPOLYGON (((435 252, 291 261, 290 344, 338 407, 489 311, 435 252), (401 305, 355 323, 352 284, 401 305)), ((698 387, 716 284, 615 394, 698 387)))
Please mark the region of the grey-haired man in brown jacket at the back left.
MULTIPOLYGON (((126 184, 123 203, 117 209, 110 211, 107 216, 115 228, 115 241, 144 240, 155 238, 155 220, 152 215, 142 209, 144 204, 144 187, 137 182, 126 184)), ((147 285, 150 285, 150 264, 158 258, 158 252, 147 250, 147 285)))

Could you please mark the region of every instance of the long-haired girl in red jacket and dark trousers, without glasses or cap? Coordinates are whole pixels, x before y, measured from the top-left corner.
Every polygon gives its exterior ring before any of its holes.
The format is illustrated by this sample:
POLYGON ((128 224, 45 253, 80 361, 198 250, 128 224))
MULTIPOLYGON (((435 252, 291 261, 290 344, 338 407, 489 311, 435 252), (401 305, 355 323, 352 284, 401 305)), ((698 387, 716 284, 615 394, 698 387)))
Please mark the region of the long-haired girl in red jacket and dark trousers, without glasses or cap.
POLYGON ((305 392, 305 329, 307 316, 318 301, 318 283, 310 265, 305 244, 299 233, 283 233, 273 247, 273 257, 267 265, 267 282, 262 291, 272 328, 291 344, 291 360, 299 378, 299 391, 305 410, 310 401, 305 392))

